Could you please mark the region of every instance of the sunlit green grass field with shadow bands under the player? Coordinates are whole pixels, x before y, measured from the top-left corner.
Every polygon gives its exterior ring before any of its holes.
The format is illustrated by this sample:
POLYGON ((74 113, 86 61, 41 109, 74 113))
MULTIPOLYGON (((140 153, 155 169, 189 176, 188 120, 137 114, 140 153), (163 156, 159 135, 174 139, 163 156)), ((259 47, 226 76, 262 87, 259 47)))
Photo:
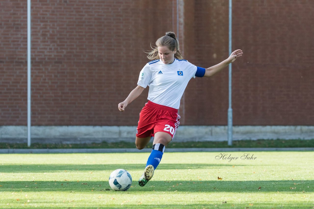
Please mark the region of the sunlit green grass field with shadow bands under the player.
POLYGON ((165 152, 144 187, 149 153, 0 154, 0 208, 314 208, 314 152, 244 153, 165 152), (118 168, 126 192, 108 184, 118 168))

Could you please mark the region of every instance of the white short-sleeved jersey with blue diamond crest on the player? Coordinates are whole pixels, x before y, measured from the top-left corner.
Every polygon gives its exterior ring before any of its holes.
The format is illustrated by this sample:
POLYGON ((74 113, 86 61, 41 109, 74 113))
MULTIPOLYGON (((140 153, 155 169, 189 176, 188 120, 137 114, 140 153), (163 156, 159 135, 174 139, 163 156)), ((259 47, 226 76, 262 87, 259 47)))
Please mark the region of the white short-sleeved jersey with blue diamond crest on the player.
POLYGON ((175 59, 171 64, 153 60, 141 70, 138 85, 149 86, 147 99, 151 102, 179 109, 187 83, 195 78, 196 71, 197 66, 187 60, 175 59))

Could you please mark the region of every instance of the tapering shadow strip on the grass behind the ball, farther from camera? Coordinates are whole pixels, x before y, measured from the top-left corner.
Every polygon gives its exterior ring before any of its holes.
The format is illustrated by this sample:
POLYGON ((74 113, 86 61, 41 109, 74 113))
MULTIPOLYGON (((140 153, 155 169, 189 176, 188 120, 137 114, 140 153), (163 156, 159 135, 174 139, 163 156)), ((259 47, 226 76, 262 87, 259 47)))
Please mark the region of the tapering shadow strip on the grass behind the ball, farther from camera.
MULTIPOLYGON (((1 173, 41 173, 41 172, 59 172, 67 170, 67 172, 78 172, 78 171, 113 171, 118 168, 126 170, 137 170, 143 169, 144 164, 94 164, 94 165, 81 165, 81 164, 28 164, 28 165, 16 165, 16 164, 5 164, 0 165, 1 173)), ((176 169, 180 166, 180 169, 198 169, 198 168, 214 168, 231 166, 229 164, 160 164, 158 169, 176 169)), ((248 165, 238 165, 248 166, 248 165)))

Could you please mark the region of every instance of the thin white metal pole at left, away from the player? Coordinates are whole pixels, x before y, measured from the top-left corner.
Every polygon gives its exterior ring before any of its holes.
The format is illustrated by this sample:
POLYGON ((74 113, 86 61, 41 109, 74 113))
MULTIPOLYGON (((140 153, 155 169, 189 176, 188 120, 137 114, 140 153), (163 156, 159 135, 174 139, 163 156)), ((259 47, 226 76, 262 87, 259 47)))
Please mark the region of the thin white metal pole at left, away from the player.
POLYGON ((27 0, 27 146, 30 147, 30 0, 27 0))

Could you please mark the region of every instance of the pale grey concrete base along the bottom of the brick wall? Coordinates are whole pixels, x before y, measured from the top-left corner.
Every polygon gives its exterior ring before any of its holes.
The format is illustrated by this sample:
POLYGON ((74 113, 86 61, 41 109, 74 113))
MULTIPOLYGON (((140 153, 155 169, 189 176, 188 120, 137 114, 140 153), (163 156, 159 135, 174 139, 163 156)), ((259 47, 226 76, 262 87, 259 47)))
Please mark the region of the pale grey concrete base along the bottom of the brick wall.
MULTIPOLYGON (((32 143, 134 142, 136 126, 33 126, 32 143)), ((314 126, 234 126, 233 140, 314 139, 314 126)), ((227 141, 227 126, 180 126, 173 139, 227 141)), ((0 126, 0 142, 26 143, 26 126, 0 126)))

